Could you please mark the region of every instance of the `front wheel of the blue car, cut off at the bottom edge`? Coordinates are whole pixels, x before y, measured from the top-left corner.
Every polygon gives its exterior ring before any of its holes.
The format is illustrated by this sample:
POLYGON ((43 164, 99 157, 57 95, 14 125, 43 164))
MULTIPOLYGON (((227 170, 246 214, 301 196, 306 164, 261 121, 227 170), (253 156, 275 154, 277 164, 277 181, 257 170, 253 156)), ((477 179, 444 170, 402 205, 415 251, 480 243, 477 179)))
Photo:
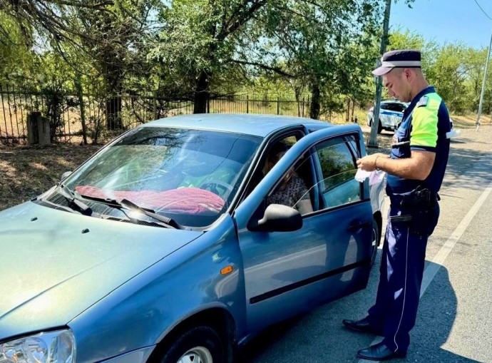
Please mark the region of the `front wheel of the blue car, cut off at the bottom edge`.
POLYGON ((226 363, 227 356, 219 334, 211 327, 199 326, 175 339, 158 362, 226 363))

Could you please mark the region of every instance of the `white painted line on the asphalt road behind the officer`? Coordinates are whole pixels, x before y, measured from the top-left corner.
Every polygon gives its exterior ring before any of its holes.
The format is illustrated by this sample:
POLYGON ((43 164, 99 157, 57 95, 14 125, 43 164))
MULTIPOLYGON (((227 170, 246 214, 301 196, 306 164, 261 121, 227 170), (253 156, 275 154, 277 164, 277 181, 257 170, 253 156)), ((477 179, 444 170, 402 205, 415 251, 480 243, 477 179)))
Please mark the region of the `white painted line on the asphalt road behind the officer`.
MULTIPOLYGON (((433 263, 431 263, 426 267, 426 269, 424 270, 424 277, 422 278, 420 297, 424 295, 424 292, 426 292, 427 287, 429 287, 432 280, 434 280, 436 273, 441 268, 441 265, 446 260, 446 257, 448 257, 449 252, 453 250, 453 247, 456 245, 456 242, 458 242, 458 240, 461 238, 463 232, 466 231, 466 228, 468 227, 468 225, 470 225, 476 213, 478 213, 478 210, 480 210, 481 206, 483 205, 483 203, 485 203, 486 199, 488 198, 488 195, 490 195, 491 192, 492 192, 492 182, 488 185, 488 187, 485 190, 483 190, 483 193, 476 200, 473 207, 471 207, 470 210, 468 210, 468 213, 466 213, 465 217, 461 220, 458 227, 456 227, 456 229, 451 234, 451 236, 449 236, 448 240, 446 240, 446 243, 444 243, 443 247, 441 247, 441 250, 437 252, 436 256, 434 257, 434 260, 432 260, 433 263)), ((377 344, 381 342, 381 340, 382 340, 381 337, 376 337, 376 339, 372 341, 371 345, 377 344)), ((377 361, 359 359, 358 363, 374 363, 374 362, 377 361)))

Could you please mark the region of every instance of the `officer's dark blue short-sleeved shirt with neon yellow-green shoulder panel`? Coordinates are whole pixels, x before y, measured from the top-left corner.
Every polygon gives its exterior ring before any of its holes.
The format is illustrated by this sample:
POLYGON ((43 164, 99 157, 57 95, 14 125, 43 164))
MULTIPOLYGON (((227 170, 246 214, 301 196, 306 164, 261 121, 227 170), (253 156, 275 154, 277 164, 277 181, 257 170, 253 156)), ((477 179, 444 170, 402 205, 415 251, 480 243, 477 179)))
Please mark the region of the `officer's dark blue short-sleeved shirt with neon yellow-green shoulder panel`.
POLYGON ((410 158, 411 150, 427 150, 436 153, 431 173, 426 180, 411 180, 396 175, 387 176, 387 193, 409 193, 423 185, 434 193, 441 188, 448 163, 451 130, 449 112, 433 86, 417 94, 404 111, 403 121, 396 131, 391 148, 391 158, 410 158), (404 143, 409 141, 409 143, 404 143), (400 143, 400 145, 395 145, 400 143))

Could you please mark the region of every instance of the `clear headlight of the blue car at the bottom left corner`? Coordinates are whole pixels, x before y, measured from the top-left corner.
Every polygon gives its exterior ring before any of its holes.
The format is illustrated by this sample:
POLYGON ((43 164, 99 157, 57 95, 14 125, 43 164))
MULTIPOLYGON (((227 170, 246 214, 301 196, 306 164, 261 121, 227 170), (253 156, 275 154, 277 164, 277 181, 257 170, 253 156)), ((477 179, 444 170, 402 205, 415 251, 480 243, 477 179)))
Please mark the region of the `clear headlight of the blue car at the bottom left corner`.
POLYGON ((75 338, 58 330, 0 343, 0 363, 75 363, 75 338))

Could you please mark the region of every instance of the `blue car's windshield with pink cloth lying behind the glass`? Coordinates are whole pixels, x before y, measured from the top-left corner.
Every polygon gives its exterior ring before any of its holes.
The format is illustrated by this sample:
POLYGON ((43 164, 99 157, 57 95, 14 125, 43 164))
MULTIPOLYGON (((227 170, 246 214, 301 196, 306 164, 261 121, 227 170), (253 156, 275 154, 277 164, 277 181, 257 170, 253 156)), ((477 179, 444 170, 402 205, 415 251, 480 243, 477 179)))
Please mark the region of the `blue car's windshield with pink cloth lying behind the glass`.
MULTIPOLYGON (((104 201, 130 200, 180 225, 205 227, 227 210, 260 142, 236 133, 138 128, 63 184, 97 213, 121 216, 104 201)), ((58 194, 48 200, 60 203, 58 194)))

